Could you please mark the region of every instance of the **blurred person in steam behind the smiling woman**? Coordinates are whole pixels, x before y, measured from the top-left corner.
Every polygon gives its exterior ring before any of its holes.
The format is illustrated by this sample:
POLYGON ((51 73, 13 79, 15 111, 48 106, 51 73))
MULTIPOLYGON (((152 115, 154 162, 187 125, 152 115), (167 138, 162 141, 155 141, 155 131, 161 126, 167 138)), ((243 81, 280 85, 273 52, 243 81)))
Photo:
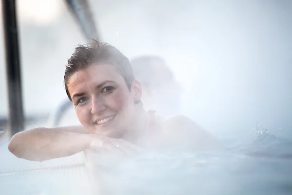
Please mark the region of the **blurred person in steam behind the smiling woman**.
POLYGON ((141 100, 146 110, 154 109, 165 116, 180 113, 182 88, 162 57, 137 57, 131 60, 131 66, 142 85, 141 100))

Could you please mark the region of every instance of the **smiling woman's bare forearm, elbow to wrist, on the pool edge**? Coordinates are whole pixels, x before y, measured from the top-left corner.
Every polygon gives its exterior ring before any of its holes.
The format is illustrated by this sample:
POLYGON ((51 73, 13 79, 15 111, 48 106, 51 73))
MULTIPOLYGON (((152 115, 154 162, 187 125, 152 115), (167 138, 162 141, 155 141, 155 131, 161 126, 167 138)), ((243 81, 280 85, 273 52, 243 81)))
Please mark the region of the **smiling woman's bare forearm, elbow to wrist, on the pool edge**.
POLYGON ((19 158, 44 161, 71 156, 88 147, 89 135, 61 129, 37 128, 14 135, 8 149, 19 158))

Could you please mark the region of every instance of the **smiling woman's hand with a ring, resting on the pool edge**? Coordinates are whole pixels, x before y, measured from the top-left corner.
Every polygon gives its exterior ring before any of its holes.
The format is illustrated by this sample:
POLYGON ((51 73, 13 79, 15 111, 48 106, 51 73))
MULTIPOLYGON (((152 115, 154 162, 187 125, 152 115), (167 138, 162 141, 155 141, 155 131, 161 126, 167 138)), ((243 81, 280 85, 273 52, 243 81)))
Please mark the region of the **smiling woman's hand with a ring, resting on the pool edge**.
POLYGON ((116 139, 111 137, 89 135, 88 149, 93 151, 107 151, 115 154, 135 154, 145 150, 125 139, 116 139))

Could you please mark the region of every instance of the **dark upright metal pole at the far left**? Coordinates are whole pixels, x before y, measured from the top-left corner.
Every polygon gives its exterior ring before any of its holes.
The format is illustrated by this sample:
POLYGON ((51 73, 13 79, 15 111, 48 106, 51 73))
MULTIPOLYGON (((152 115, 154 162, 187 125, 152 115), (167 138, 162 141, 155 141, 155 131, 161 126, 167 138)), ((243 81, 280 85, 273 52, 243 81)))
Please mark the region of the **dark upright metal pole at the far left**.
POLYGON ((2 16, 9 104, 8 128, 12 137, 22 131, 24 126, 15 0, 2 0, 2 16))

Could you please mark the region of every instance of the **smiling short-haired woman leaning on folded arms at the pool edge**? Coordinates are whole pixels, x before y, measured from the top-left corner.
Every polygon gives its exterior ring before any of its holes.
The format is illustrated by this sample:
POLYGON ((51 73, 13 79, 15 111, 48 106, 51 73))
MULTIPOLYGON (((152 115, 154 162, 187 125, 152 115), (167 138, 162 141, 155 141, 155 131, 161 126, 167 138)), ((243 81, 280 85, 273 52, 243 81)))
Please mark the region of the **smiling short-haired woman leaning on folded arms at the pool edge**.
POLYGON ((75 48, 64 83, 82 126, 20 132, 8 145, 15 156, 43 161, 84 150, 128 154, 144 149, 220 148, 216 137, 187 117, 164 118, 156 116, 155 111, 146 112, 140 101, 141 85, 128 58, 107 43, 93 41, 75 48))

